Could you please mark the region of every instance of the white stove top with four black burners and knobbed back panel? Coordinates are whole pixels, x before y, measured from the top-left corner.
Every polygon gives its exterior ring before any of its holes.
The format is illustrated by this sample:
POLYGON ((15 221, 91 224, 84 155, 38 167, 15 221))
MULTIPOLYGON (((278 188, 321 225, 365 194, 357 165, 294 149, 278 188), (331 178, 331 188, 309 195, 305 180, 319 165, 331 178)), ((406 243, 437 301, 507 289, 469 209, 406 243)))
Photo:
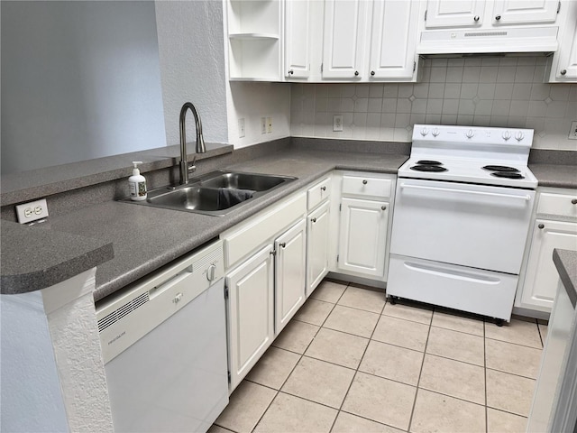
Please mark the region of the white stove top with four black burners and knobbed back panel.
POLYGON ((533 130, 416 124, 399 178, 536 189, 527 167, 533 130))

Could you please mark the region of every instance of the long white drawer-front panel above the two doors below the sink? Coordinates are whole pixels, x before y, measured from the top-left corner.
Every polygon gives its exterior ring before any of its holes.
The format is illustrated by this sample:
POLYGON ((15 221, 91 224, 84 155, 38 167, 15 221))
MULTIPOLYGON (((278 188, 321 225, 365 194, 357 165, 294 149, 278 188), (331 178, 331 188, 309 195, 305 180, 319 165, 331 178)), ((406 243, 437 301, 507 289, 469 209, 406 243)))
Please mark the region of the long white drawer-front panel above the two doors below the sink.
POLYGON ((252 217, 246 223, 224 232, 224 263, 230 269, 243 257, 256 248, 270 241, 281 230, 290 226, 307 212, 307 195, 305 191, 288 198, 280 205, 274 206, 261 215, 252 217))

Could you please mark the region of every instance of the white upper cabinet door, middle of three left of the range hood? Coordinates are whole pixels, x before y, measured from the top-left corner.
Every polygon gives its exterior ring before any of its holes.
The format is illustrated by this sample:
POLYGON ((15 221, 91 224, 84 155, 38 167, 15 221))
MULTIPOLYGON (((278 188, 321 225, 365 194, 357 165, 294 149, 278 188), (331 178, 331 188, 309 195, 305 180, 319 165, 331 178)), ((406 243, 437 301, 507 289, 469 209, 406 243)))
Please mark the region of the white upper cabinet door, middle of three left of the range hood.
POLYGON ((325 0, 323 78, 362 78, 367 0, 325 0))

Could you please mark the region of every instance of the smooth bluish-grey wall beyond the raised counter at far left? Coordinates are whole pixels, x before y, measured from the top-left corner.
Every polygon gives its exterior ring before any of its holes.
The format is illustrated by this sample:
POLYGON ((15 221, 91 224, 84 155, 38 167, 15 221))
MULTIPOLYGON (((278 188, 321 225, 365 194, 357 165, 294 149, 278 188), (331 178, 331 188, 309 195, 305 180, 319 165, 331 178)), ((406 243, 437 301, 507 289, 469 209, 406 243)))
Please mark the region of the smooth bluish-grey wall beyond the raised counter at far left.
POLYGON ((166 144, 152 2, 1 7, 3 173, 166 144))

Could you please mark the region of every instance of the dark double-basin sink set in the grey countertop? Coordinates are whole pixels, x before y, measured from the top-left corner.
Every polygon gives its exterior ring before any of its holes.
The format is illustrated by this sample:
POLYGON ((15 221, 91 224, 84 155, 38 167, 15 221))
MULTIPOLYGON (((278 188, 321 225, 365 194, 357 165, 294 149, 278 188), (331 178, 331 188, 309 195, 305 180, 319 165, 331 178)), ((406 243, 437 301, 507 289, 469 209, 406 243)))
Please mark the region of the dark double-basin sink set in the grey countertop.
POLYGON ((148 198, 132 203, 182 210, 197 214, 224 216, 251 198, 260 197, 297 178, 270 174, 217 170, 187 185, 148 191, 148 198))

